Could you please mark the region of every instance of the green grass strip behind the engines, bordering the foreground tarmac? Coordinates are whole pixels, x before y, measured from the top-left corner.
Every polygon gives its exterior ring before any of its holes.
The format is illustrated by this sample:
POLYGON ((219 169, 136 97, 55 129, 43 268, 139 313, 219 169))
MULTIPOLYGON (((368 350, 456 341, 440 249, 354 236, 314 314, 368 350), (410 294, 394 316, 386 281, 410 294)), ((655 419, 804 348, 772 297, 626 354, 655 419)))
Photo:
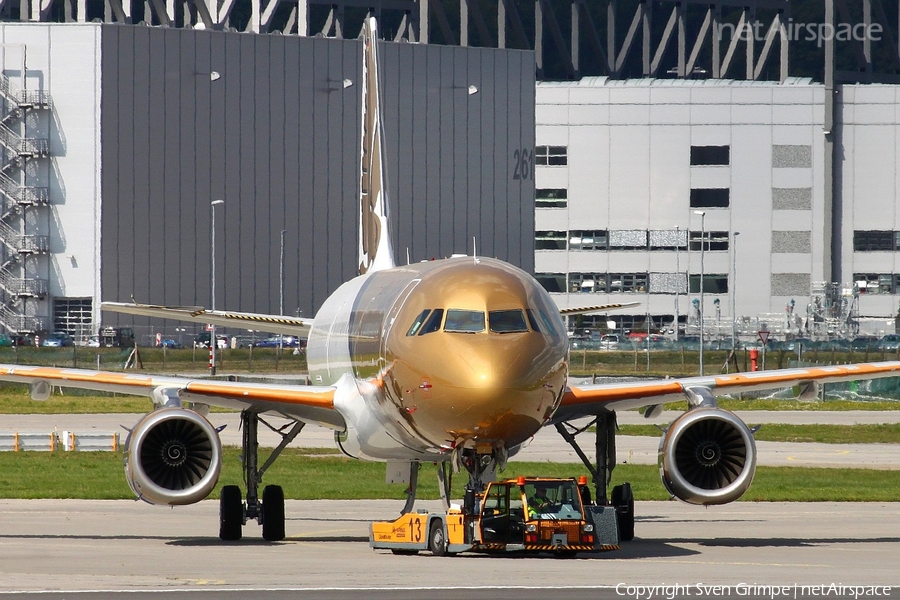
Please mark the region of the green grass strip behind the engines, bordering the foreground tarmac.
MULTIPOLYGON (((225 450, 219 486, 242 481, 239 451, 225 450)), ((263 459, 263 457, 261 457, 263 459)), ((437 477, 431 465, 419 475, 422 499, 438 498, 437 477)), ((284 487, 292 499, 396 499, 404 498, 405 486, 384 483, 385 467, 335 456, 310 456, 303 449, 289 449, 266 473, 265 483, 284 487)), ((510 463, 501 477, 518 475, 577 477, 583 467, 556 463, 510 463)), ((452 480, 453 497, 462 497, 466 477, 452 480)), ((619 465, 613 483, 630 481, 638 500, 666 500, 668 494, 652 465, 619 465)), ((744 496, 749 501, 793 502, 897 502, 900 471, 864 469, 813 469, 759 467, 753 486, 744 496)), ((211 497, 218 498, 218 488, 211 497)), ((2 452, 0 497, 16 499, 80 498, 133 499, 122 471, 121 453, 111 452, 2 452)))

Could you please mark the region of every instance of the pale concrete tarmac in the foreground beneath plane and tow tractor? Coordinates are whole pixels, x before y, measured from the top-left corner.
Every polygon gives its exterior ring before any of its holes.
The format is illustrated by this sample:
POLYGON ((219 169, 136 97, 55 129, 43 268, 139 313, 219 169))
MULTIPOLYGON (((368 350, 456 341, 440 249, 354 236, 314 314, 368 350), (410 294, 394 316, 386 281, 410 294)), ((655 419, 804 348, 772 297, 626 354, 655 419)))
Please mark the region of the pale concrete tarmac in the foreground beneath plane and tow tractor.
MULTIPOLYGON (((243 598, 559 599, 681 585, 692 598, 711 598, 724 594, 706 586, 722 585, 732 588, 729 597, 756 598, 770 596, 740 593, 737 586, 900 584, 900 503, 702 508, 638 502, 634 541, 573 559, 372 550, 369 523, 393 520, 400 504, 288 501, 285 541, 263 541, 251 522, 242 541, 224 543, 217 537, 216 501, 170 509, 133 501, 0 500, 0 597, 55 591, 38 597, 90 598, 73 592, 93 590, 96 597, 129 592, 133 598, 144 590, 154 598, 234 592, 243 598)), ((417 504, 423 507, 437 509, 437 503, 417 504)))

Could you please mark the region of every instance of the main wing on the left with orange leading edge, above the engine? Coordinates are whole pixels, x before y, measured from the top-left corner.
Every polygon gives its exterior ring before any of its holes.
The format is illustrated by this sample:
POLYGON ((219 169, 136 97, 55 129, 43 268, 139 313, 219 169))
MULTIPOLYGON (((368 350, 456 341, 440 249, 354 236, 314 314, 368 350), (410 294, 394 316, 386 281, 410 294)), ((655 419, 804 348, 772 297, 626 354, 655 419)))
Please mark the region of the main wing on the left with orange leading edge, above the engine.
POLYGON ((46 400, 53 386, 146 396, 162 406, 169 399, 235 410, 255 408, 307 423, 343 431, 343 417, 334 408, 331 386, 297 386, 187 377, 161 377, 87 369, 0 365, 0 381, 24 383, 31 397, 46 400))

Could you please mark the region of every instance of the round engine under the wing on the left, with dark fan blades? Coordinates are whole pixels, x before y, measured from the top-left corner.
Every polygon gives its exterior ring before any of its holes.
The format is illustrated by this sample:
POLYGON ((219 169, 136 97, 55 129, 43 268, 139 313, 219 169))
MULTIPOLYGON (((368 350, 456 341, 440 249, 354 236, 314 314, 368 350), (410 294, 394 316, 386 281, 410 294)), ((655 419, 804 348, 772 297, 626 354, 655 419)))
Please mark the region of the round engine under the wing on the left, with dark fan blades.
POLYGON ((222 443, 209 421, 185 408, 162 408, 125 440, 125 478, 150 504, 193 504, 219 480, 222 443))

